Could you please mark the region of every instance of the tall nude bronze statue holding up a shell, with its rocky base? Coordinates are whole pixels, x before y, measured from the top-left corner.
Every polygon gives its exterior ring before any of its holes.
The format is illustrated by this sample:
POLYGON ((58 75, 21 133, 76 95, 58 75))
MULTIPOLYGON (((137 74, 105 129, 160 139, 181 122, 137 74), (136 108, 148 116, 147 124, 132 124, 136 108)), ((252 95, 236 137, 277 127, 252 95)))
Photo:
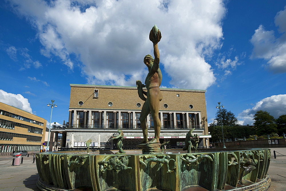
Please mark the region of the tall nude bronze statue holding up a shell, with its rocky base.
MULTIPOLYGON (((142 84, 140 80, 136 81, 136 85, 138 88, 139 97, 145 101, 142 106, 141 114, 140 114, 140 124, 143 132, 143 140, 139 143, 140 147, 143 149, 148 149, 150 146, 152 147, 155 143, 154 147, 157 147, 156 143, 160 144, 160 130, 161 130, 161 121, 159 118, 159 108, 160 101, 162 100, 162 93, 160 92, 160 85, 162 82, 162 72, 159 67, 160 62, 160 53, 158 49, 158 42, 160 42, 162 36, 161 32, 156 25, 151 29, 149 34, 149 40, 153 43, 154 48, 154 59, 150 54, 144 57, 144 64, 148 68, 148 74, 145 79, 145 85, 142 84), (147 91, 144 91, 142 88, 146 87, 147 91), (144 97, 146 95, 147 98, 144 97), (147 116, 151 113, 151 116, 154 121, 154 131, 155 136, 151 141, 148 140, 148 125, 147 125, 147 116), (144 147, 143 144, 150 144, 147 147, 144 147)), ((147 151, 144 151, 148 153, 147 151)), ((154 153, 154 151, 150 151, 149 153, 154 153)), ((157 153, 160 153, 157 152, 157 153)))

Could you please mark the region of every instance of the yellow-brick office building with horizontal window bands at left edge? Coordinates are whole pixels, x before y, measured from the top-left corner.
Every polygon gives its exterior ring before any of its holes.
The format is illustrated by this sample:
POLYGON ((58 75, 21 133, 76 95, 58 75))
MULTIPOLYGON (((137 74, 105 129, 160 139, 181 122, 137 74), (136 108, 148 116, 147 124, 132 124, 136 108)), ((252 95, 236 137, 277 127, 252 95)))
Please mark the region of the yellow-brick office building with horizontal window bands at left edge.
POLYGON ((0 152, 39 151, 47 121, 0 102, 0 152))

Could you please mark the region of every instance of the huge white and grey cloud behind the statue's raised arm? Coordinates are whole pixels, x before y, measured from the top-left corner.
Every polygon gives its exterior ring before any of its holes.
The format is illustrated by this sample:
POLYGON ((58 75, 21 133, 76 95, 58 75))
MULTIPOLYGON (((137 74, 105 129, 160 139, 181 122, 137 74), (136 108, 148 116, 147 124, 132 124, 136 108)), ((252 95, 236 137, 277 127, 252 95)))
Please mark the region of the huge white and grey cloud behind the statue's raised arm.
POLYGON ((206 89, 216 80, 205 57, 222 46, 223 1, 10 3, 36 28, 41 54, 57 56, 71 69, 72 58, 78 58, 89 83, 134 86, 144 81, 143 58, 153 52, 148 35, 154 24, 162 32, 160 62, 171 86, 206 89))

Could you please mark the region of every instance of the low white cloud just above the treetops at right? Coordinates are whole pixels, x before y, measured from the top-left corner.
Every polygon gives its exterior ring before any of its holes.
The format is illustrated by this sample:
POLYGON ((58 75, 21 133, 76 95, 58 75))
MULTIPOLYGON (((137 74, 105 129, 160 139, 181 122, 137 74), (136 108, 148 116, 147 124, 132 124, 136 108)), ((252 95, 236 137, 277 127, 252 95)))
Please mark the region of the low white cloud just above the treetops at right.
POLYGON ((253 116, 259 110, 267 111, 274 118, 286 114, 286 94, 273 95, 257 102, 251 109, 246 109, 239 114, 241 125, 253 124, 253 116), (243 121, 243 123, 242 123, 243 121))

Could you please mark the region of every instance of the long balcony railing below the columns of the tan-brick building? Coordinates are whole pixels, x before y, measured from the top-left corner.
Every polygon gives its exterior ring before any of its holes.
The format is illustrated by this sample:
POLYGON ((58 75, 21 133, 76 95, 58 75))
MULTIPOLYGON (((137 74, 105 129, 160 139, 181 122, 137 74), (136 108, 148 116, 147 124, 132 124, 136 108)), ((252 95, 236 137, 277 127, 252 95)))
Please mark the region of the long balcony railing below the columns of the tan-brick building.
MULTIPOLYGON (((204 125, 162 125, 161 129, 204 129, 204 125)), ((52 129, 141 129, 140 125, 53 125, 52 129)), ((154 126, 148 125, 148 129, 154 126)))

